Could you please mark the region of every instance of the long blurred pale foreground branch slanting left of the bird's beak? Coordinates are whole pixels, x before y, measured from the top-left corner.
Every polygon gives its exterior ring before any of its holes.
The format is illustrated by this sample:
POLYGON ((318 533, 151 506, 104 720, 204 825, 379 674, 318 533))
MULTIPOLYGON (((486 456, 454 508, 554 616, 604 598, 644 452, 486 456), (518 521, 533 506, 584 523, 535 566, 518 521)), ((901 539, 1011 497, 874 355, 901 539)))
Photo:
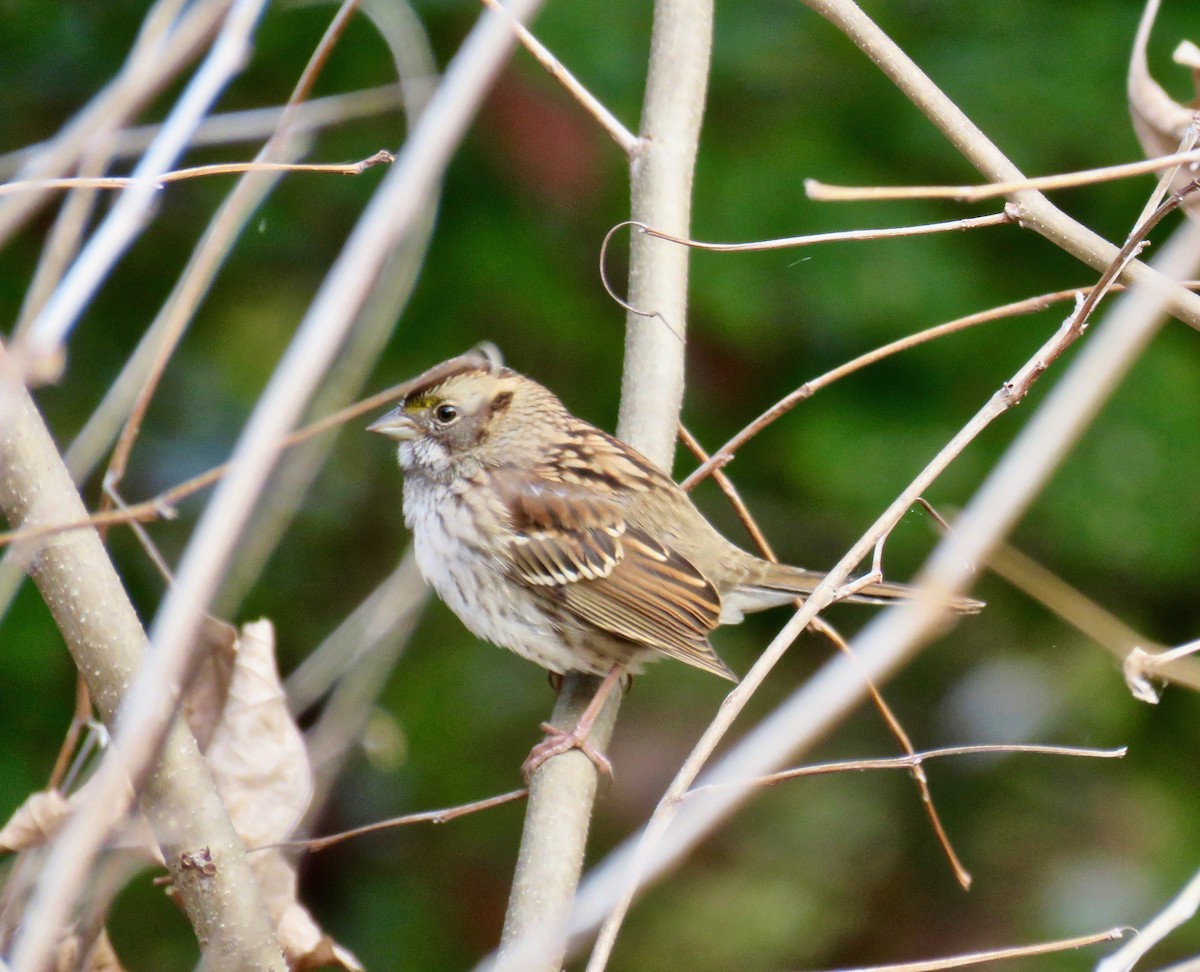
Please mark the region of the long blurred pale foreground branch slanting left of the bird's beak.
MULTIPOLYGON (((514 0, 510 10, 523 18, 536 6, 536 0, 514 0)), ((234 450, 233 472, 200 517, 175 584, 155 619, 148 661, 138 670, 121 707, 120 745, 107 754, 92 778, 100 805, 116 804, 127 781, 139 776, 142 768, 152 761, 169 724, 169 712, 163 710, 162 701, 169 696, 168 686, 179 684, 188 667, 202 612, 216 590, 266 481, 280 442, 332 362, 386 253, 422 211, 451 151, 511 48, 508 25, 485 14, 455 56, 430 109, 382 180, 305 314, 234 450)), ((4 428, 2 422, 0 428, 4 428)), ((47 880, 38 887, 37 911, 29 917, 30 923, 36 918, 42 934, 60 926, 74 896, 85 887, 84 875, 103 840, 98 816, 102 815, 73 816, 50 852, 47 880)), ((30 954, 40 958, 43 953, 38 948, 30 954)), ((30 967, 23 966, 20 972, 30 967)))

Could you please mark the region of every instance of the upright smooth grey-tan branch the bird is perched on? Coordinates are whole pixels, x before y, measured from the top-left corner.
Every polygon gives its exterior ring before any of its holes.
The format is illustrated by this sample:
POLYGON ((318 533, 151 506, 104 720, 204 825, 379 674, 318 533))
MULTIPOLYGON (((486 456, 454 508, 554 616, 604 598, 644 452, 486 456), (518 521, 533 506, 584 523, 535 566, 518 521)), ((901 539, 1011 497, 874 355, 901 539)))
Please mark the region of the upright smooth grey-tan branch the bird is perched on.
MULTIPOLYGON (((630 158, 634 220, 679 236, 691 224, 691 182, 708 85, 710 0, 659 0, 638 144, 630 158)), ((618 434, 671 468, 683 401, 688 250, 637 234, 630 253, 625 371, 618 434)), ((598 680, 568 676, 557 726, 571 726, 598 680)), ((620 703, 613 694, 589 737, 607 745, 620 703)), ((619 772, 619 770, 618 770, 619 772)), ((550 970, 563 961, 595 798, 596 770, 582 754, 548 760, 535 774, 504 924, 500 966, 550 970)))

